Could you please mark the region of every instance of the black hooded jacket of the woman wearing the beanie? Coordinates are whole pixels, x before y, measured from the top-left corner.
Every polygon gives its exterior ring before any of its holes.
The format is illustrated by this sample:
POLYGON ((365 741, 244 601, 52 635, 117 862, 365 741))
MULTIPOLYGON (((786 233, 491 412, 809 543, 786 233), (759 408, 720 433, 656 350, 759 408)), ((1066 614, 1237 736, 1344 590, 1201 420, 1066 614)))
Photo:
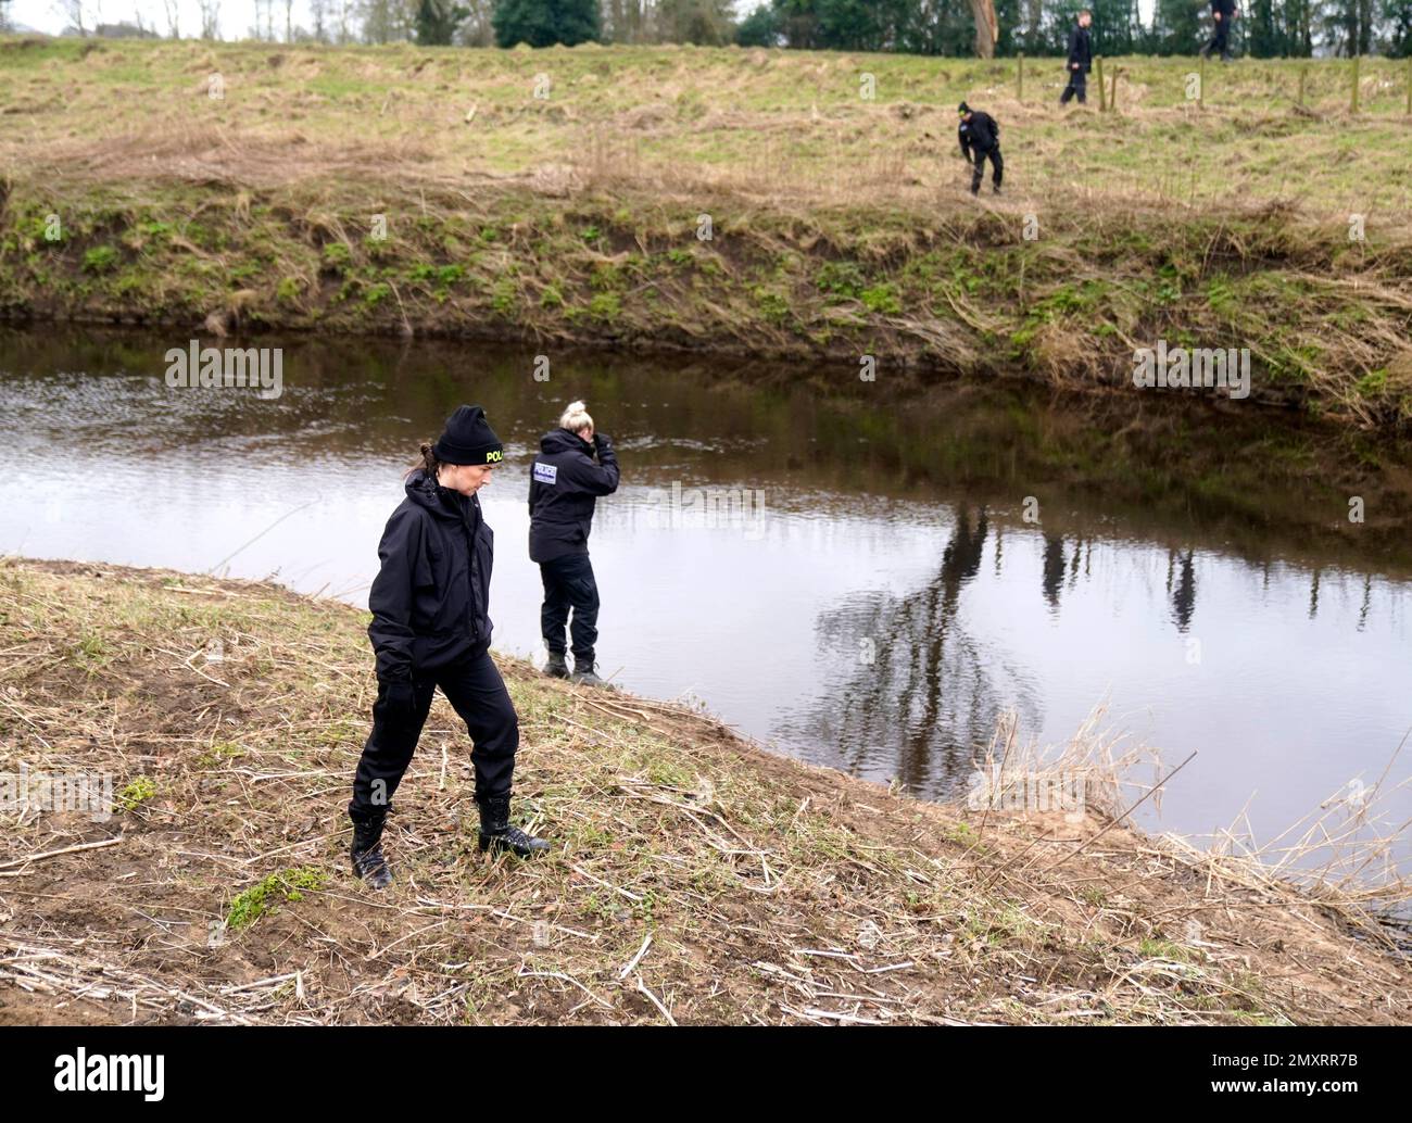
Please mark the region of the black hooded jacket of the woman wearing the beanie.
POLYGON ((407 679, 490 647, 494 541, 476 496, 442 487, 422 469, 408 476, 367 596, 380 679, 407 679))

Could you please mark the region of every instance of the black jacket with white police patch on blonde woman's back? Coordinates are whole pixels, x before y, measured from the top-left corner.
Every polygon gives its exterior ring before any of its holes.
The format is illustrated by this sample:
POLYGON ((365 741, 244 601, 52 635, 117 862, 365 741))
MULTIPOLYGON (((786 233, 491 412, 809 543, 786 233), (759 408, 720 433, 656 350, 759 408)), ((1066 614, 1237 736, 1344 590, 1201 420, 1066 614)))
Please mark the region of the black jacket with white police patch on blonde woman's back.
POLYGON ((539 455, 530 466, 530 561, 589 552, 593 506, 618 485, 613 442, 603 434, 596 436, 597 445, 568 429, 539 438, 539 455))

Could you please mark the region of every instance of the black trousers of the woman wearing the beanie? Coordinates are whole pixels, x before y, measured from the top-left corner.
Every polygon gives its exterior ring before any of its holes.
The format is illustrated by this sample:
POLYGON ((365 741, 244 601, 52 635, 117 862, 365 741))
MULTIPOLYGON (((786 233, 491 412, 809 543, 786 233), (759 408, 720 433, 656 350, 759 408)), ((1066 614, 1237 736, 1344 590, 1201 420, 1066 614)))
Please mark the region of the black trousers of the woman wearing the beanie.
POLYGON ((412 763, 412 753, 438 687, 470 733, 476 801, 510 794, 515 749, 520 747, 520 719, 500 670, 490 653, 483 651, 426 675, 414 675, 415 705, 409 716, 388 712, 387 687, 378 684, 377 701, 373 702, 373 732, 353 774, 349 815, 385 812, 391 805, 397 785, 402 783, 402 773, 412 763))

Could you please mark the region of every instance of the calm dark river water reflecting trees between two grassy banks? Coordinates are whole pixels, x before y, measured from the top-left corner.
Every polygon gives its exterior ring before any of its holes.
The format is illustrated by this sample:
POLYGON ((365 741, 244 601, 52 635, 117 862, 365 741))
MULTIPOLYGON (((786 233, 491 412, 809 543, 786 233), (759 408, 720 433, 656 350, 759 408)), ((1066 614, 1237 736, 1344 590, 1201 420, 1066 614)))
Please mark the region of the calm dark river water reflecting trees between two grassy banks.
POLYGON ((366 606, 402 469, 479 403, 505 444, 480 493, 494 644, 542 661, 528 465, 583 397, 623 466, 592 537, 600 667, 777 751, 955 797, 1003 712, 1065 742, 1106 702, 1168 767, 1197 753, 1144 825, 1268 839, 1371 787, 1412 727, 1406 449, 1162 391, 251 340, 281 343, 261 398, 168 387, 184 338, 0 335, 0 552, 366 606))

